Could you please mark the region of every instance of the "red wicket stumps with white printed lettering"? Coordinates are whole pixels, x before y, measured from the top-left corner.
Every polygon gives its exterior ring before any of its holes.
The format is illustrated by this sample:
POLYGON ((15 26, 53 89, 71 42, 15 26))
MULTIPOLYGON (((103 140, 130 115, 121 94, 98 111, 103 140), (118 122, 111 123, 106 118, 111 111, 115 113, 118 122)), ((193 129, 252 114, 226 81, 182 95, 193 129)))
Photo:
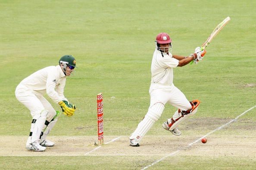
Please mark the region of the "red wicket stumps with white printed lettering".
POLYGON ((98 145, 103 145, 103 96, 97 95, 98 145))

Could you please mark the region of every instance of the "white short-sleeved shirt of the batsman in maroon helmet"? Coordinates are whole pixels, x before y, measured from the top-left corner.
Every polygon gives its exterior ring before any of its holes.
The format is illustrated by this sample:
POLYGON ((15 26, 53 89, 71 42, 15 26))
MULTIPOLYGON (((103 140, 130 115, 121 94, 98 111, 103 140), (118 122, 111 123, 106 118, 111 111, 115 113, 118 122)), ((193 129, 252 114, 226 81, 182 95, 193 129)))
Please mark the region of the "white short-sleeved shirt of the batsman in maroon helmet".
POLYGON ((151 63, 151 84, 167 85, 173 84, 173 70, 177 67, 179 61, 172 58, 172 54, 162 53, 155 50, 151 63))

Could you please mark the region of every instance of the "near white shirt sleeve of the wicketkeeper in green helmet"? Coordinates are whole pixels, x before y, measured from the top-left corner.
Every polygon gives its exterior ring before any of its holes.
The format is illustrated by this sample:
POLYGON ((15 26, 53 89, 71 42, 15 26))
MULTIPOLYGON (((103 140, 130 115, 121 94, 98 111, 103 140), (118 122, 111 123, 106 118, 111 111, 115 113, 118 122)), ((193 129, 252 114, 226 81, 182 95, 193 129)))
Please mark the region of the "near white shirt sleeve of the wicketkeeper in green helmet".
POLYGON ((55 69, 49 69, 46 81, 46 93, 54 103, 58 103, 62 100, 59 94, 55 91, 57 79, 59 79, 59 73, 55 69))

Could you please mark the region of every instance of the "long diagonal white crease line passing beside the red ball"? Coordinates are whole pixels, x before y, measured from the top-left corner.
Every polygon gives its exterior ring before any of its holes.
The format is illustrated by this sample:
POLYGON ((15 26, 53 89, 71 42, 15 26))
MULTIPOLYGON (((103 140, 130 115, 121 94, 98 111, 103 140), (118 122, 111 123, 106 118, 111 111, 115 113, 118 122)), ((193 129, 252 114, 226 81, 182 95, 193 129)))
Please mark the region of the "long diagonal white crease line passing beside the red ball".
POLYGON ((181 150, 184 150, 184 149, 186 149, 186 148, 192 146, 194 143, 197 143, 197 142, 200 141, 202 138, 207 137, 209 134, 212 134, 212 133, 215 132, 215 131, 221 130, 223 127, 225 127, 225 126, 227 126, 228 124, 230 124, 230 123, 236 121, 240 116, 242 116, 242 115, 244 115, 245 113, 249 112, 249 111, 250 111, 251 109, 253 109, 254 107, 256 107, 256 106, 253 106, 252 108, 250 108, 250 109, 248 109, 247 111, 243 112, 242 114, 240 114, 239 116, 237 116, 237 117, 234 118, 233 120, 229 121, 228 123, 223 124, 222 126, 220 126, 220 127, 218 127, 217 129, 215 129, 215 130, 209 132, 208 134, 204 135, 203 137, 200 137, 198 140, 195 140, 194 142, 190 143, 188 146, 185 146, 183 149, 179 149, 179 150, 177 150, 177 151, 175 151, 175 152, 170 153, 169 155, 167 155, 167 156, 165 156, 165 157, 163 157, 163 158, 161 158, 161 159, 159 159, 159 160, 153 162, 152 164, 148 165, 147 167, 144 167, 142 170, 145 170, 145 169, 147 169, 147 168, 153 166, 154 164, 157 164, 158 162, 161 162, 161 161, 164 160, 165 158, 167 158, 167 157, 169 157, 169 156, 172 156, 172 155, 175 155, 176 153, 180 152, 181 150))

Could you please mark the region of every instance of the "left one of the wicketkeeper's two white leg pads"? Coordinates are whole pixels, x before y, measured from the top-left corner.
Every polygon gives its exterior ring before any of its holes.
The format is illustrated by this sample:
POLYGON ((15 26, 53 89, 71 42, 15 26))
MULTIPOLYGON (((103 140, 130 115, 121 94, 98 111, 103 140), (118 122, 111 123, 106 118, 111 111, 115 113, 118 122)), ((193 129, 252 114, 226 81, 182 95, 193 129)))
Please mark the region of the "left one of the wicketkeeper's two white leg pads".
POLYGON ((32 132, 31 143, 34 143, 36 141, 40 142, 40 134, 44 128, 44 123, 45 123, 47 114, 48 114, 48 111, 43 110, 40 114, 34 117, 34 119, 36 119, 36 122, 34 123, 33 131, 31 131, 32 132))

